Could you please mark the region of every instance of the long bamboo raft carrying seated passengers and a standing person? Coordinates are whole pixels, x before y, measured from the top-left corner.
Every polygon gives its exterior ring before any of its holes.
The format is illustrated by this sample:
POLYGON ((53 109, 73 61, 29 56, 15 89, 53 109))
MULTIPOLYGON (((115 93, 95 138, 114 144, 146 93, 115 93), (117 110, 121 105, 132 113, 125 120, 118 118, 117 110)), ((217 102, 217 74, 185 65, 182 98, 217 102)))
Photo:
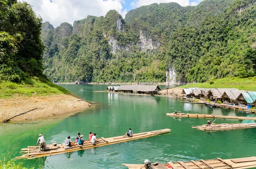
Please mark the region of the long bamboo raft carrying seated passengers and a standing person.
POLYGON ((99 142, 97 142, 97 144, 93 144, 90 142, 90 140, 84 140, 84 144, 83 145, 78 145, 78 143, 76 143, 75 146, 66 146, 64 143, 62 144, 55 144, 53 145, 46 145, 46 147, 49 147, 49 151, 44 151, 44 152, 39 152, 39 147, 38 146, 27 146, 27 148, 25 149, 21 149, 20 157, 15 157, 15 159, 34 159, 34 158, 41 158, 41 157, 45 157, 45 156, 50 156, 50 155, 58 155, 58 154, 62 154, 62 153, 66 153, 66 152, 75 152, 75 151, 79 151, 79 150, 83 150, 83 149, 90 149, 93 147, 99 147, 99 146, 107 146, 110 144, 115 144, 115 143, 121 143, 121 142, 126 142, 126 141, 130 141, 130 140, 137 140, 137 139, 141 139, 141 138, 146 138, 146 137, 152 137, 155 135, 160 135, 163 133, 167 133, 170 132, 170 129, 162 129, 162 130, 156 130, 156 131, 152 131, 152 132, 143 132, 143 133, 137 133, 134 134, 132 137, 123 137, 123 136, 118 136, 118 137, 109 137, 109 138, 97 138, 97 140, 99 142), (54 149, 54 147, 56 147, 54 149))

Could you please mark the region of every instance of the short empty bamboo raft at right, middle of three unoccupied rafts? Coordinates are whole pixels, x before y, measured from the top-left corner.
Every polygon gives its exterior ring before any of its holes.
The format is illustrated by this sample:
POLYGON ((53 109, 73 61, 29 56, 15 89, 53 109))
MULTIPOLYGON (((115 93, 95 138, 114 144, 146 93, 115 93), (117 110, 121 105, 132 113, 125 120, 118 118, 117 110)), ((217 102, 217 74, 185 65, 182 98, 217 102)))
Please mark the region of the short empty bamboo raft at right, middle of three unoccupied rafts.
POLYGON ((192 128, 197 128, 201 131, 221 131, 221 130, 234 130, 234 129, 249 129, 255 128, 256 123, 221 123, 221 124, 204 124, 202 126, 192 126, 192 128))

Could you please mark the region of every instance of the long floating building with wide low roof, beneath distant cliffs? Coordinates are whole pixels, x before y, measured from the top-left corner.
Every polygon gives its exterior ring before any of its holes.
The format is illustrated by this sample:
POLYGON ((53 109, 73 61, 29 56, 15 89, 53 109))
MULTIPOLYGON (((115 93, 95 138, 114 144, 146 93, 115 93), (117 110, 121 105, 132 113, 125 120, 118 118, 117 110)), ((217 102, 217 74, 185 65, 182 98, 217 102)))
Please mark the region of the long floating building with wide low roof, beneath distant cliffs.
POLYGON ((123 93, 158 94, 160 87, 157 85, 121 85, 117 91, 123 93))

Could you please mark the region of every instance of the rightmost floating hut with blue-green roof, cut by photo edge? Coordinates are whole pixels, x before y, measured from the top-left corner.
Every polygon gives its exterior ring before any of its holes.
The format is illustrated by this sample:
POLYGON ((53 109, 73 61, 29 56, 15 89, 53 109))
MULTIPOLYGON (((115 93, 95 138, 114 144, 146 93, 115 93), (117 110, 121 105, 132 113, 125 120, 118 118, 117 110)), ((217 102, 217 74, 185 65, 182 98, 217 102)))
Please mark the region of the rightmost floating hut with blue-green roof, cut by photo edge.
POLYGON ((256 106, 256 92, 241 93, 236 98, 236 103, 239 103, 241 106, 246 106, 247 104, 256 106))

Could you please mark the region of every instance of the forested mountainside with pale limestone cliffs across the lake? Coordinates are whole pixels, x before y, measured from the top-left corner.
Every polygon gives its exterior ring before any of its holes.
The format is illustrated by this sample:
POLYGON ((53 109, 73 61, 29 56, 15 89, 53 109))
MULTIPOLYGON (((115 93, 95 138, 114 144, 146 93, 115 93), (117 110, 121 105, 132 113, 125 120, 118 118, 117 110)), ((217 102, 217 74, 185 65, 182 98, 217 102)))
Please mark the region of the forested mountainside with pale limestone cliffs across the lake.
POLYGON ((73 26, 43 24, 44 73, 53 82, 205 82, 256 74, 256 1, 154 3, 73 26))

